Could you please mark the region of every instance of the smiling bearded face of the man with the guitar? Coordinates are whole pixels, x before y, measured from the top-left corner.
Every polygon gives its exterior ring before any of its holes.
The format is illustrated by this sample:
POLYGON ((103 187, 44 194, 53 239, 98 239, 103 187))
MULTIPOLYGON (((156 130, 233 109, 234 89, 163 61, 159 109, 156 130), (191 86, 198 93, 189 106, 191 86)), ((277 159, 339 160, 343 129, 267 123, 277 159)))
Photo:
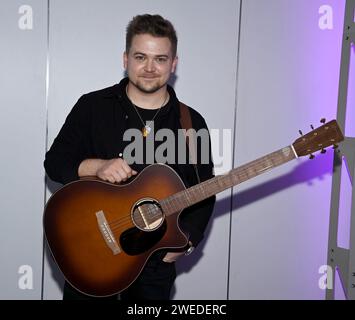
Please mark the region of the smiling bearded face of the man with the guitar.
POLYGON ((154 93, 166 86, 177 57, 173 57, 169 38, 140 34, 133 37, 123 61, 130 82, 144 93, 154 93))

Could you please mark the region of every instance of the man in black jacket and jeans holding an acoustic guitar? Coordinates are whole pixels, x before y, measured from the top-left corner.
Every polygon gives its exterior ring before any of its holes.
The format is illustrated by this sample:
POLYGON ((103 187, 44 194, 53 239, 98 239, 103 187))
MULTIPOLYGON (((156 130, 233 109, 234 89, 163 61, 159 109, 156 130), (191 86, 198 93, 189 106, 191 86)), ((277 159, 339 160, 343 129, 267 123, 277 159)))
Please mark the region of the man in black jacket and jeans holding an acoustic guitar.
MULTIPOLYGON (((97 176, 122 183, 134 178, 147 163, 146 155, 155 154, 161 141, 152 147, 142 144, 138 153, 145 161, 128 163, 125 148, 131 141, 124 139, 128 129, 138 129, 148 139, 160 129, 170 129, 176 138, 174 161, 167 163, 184 181, 186 187, 213 177, 213 163, 201 161, 202 144, 197 144, 197 166, 178 161, 178 130, 181 129, 180 104, 167 83, 175 71, 178 58, 177 37, 173 25, 159 15, 140 15, 127 27, 126 51, 123 56, 128 77, 119 84, 83 95, 68 115, 62 129, 46 154, 44 166, 48 176, 68 183, 84 176, 97 176)), ((195 130, 207 129, 202 116, 189 108, 195 130)), ((157 159, 154 159, 157 161, 157 159)), ((215 197, 184 210, 180 225, 189 237, 188 252, 203 238, 213 211, 215 197)), ((120 297, 124 299, 169 299, 176 272, 176 259, 184 252, 154 253, 137 280, 120 297)), ((68 283, 64 299, 89 299, 68 283)), ((117 297, 112 297, 117 299, 117 297)))

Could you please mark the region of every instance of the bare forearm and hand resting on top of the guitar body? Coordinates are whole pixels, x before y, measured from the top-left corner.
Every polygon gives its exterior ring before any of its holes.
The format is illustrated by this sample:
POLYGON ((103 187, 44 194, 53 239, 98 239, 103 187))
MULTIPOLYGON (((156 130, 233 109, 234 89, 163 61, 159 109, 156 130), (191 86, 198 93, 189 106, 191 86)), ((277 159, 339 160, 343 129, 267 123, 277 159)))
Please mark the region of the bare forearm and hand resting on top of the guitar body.
POLYGON ((86 159, 80 164, 78 173, 79 177, 95 175, 104 181, 120 183, 136 175, 137 171, 133 170, 121 158, 111 160, 86 159))

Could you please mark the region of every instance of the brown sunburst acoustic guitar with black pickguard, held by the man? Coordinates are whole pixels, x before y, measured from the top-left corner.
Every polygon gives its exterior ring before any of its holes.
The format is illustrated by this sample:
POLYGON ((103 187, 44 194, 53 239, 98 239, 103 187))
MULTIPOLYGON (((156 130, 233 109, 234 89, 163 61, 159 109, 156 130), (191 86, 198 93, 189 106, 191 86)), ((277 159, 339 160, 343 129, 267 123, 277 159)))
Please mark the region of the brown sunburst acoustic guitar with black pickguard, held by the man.
POLYGON ((290 146, 188 189, 164 164, 146 167, 125 185, 95 178, 71 182, 52 195, 44 210, 50 251, 77 290, 91 296, 119 293, 155 251, 187 245, 178 224, 183 209, 297 157, 313 158, 342 140, 333 120, 290 146))

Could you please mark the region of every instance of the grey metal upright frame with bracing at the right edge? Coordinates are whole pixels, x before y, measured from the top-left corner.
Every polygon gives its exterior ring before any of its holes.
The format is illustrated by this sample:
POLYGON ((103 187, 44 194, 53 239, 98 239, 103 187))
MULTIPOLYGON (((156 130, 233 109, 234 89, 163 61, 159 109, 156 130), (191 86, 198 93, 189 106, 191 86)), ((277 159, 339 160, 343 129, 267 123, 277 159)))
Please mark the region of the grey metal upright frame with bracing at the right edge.
MULTIPOLYGON (((349 68, 351 57, 351 46, 355 43, 355 0, 347 0, 345 7, 343 44, 341 53, 341 69, 339 79, 339 96, 337 120, 339 126, 344 132, 348 86, 349 86, 349 68)), ((333 271, 333 276, 328 277, 332 281, 331 285, 327 283, 326 299, 333 300, 335 293, 335 270, 338 271, 342 289, 345 297, 355 300, 355 138, 346 137, 340 144, 339 149, 334 152, 333 162, 333 180, 330 204, 330 224, 328 238, 328 266, 333 271), (347 172, 352 186, 351 197, 351 222, 350 222, 350 244, 349 249, 338 247, 338 224, 339 224, 339 201, 341 190, 341 172, 343 158, 346 160, 347 172)))

